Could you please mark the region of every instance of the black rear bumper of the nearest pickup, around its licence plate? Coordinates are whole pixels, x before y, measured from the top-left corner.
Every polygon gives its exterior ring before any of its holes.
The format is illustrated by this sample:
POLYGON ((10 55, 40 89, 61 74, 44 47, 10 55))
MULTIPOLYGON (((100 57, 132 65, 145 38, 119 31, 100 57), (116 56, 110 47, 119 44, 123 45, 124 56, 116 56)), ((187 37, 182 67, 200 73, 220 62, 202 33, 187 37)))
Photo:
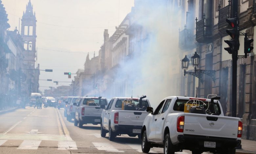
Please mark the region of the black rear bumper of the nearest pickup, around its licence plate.
POLYGON ((199 135, 179 135, 178 136, 179 145, 186 147, 186 149, 193 149, 198 147, 199 149, 212 150, 215 148, 204 147, 204 141, 216 142, 217 149, 224 148, 235 148, 241 144, 241 140, 232 138, 221 138, 221 137, 209 137, 209 136, 199 136, 199 135), (190 147, 190 145, 192 145, 190 147))

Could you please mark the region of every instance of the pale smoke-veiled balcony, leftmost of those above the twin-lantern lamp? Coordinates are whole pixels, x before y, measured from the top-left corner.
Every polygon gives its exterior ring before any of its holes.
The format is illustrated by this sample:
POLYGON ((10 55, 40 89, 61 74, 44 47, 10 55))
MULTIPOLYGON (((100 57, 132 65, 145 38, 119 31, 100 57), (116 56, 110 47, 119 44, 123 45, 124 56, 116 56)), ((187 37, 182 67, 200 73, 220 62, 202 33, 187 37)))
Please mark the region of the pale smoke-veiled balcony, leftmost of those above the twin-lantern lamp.
POLYGON ((179 48, 181 50, 190 50, 194 47, 194 29, 186 29, 185 25, 183 30, 179 30, 179 48))

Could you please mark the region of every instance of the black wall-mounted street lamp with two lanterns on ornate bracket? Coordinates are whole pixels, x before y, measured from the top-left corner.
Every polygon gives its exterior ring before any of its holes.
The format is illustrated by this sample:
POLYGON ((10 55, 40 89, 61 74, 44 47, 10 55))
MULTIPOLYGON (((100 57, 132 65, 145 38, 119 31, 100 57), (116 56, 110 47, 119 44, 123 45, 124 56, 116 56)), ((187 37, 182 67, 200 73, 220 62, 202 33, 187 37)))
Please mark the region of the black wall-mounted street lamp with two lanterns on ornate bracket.
POLYGON ((193 75, 197 78, 199 78, 199 80, 201 81, 201 83, 203 83, 203 74, 206 74, 208 76, 210 76, 213 80, 213 82, 215 81, 215 70, 203 70, 203 69, 197 69, 197 67, 199 67, 200 65, 200 55, 197 54, 197 52, 195 51, 195 53, 191 56, 191 63, 192 66, 194 67, 194 72, 188 72, 187 69, 189 67, 189 59, 187 58, 187 55, 185 55, 185 57, 181 60, 181 68, 184 70, 184 76, 186 74, 189 75, 193 75))

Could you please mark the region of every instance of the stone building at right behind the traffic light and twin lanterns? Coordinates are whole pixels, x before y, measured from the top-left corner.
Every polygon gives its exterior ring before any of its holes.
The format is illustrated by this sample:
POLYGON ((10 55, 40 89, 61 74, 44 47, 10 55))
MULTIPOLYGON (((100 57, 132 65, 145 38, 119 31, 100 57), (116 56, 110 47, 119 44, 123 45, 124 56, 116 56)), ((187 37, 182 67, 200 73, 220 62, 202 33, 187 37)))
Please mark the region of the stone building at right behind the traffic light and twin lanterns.
MULTIPOLYGON (((177 1, 181 13, 179 47, 182 56, 192 55, 195 51, 201 56, 198 69, 215 70, 215 81, 203 75, 202 82, 197 78, 188 77, 182 85, 188 91, 198 88, 198 97, 206 98, 208 94, 221 96, 224 114, 231 116, 232 108, 232 57, 226 50, 224 40, 230 37, 225 32, 228 29, 226 18, 232 17, 232 3, 228 0, 181 0, 177 1), (197 82, 196 82, 197 81, 197 82), (191 86, 188 86, 192 83, 191 86)), ((255 0, 239 1, 239 29, 248 37, 256 38, 255 0)), ((244 55, 244 36, 240 36, 238 55, 244 55)), ((254 52, 256 53, 256 52, 254 52)), ((256 58, 255 54, 240 58, 237 62, 237 117, 242 118, 244 125, 243 138, 256 140, 256 58)), ((190 67, 193 69, 193 67, 190 67)))

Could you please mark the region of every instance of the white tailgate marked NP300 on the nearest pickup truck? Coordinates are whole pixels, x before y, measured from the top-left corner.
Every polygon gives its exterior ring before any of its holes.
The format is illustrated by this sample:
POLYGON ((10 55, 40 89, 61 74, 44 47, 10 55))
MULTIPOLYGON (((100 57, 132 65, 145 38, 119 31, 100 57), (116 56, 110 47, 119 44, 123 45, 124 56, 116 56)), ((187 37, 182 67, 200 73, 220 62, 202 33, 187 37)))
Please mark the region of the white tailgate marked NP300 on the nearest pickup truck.
POLYGON ((237 138, 239 118, 185 113, 184 134, 237 138))

